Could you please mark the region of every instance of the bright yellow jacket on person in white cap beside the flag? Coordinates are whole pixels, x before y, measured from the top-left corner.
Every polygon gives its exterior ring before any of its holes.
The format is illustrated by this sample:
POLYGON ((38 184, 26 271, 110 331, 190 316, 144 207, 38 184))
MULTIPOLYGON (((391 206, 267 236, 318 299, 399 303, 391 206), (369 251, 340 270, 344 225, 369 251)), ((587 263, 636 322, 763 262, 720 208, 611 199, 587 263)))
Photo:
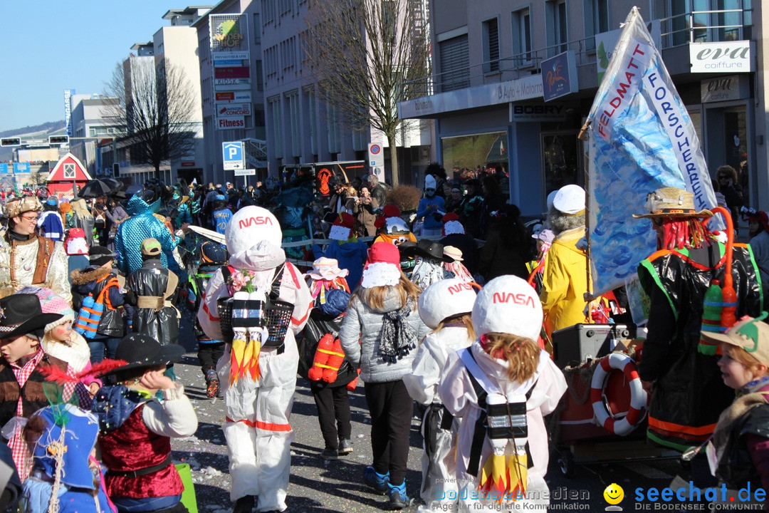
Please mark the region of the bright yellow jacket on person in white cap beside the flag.
POLYGON ((577 243, 584 237, 584 227, 562 232, 555 238, 544 261, 540 299, 548 337, 553 331, 578 323, 592 324, 584 315, 588 305, 587 257, 577 243))

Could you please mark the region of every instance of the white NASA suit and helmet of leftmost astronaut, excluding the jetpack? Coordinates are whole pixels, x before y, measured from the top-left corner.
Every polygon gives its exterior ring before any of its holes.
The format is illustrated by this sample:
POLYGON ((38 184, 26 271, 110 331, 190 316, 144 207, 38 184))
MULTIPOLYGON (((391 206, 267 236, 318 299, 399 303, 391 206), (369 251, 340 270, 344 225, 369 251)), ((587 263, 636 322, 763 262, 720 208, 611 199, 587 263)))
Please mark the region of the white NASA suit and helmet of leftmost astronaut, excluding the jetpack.
MULTIPOLYGON (((225 240, 230 265, 238 271, 255 273, 251 281, 267 290, 275 271, 285 262, 278 220, 256 206, 241 208, 231 219, 225 240)), ((298 351, 295 334, 307 323, 312 297, 301 272, 285 262, 279 299, 294 305, 284 349, 261 348, 258 356, 261 376, 254 381, 245 375, 230 385, 230 345, 218 361, 217 373, 225 391, 227 415, 224 432, 230 459, 230 498, 258 495, 257 511, 284 511, 291 470, 291 441, 294 431, 288 424, 294 400, 298 351)), ((222 339, 217 300, 229 291, 221 270, 208 281, 202 296, 198 321, 206 335, 222 339)))

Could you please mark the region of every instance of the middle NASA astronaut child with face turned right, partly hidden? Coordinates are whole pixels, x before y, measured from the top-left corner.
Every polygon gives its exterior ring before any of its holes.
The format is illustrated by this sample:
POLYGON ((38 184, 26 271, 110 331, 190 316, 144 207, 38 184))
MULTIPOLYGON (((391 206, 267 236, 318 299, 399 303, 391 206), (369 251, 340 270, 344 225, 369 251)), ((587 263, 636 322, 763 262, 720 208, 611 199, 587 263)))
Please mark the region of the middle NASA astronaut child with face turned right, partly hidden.
POLYGON ((431 331, 422 341, 411 373, 403 376, 408 394, 427 406, 422 419, 422 488, 419 511, 456 511, 456 446, 459 418, 445 410, 438 383, 448 355, 475 340, 470 318, 475 303, 471 285, 456 278, 430 285, 419 296, 419 316, 431 331), (441 495, 438 491, 442 491, 441 495), (452 493, 453 492, 453 493, 452 493))

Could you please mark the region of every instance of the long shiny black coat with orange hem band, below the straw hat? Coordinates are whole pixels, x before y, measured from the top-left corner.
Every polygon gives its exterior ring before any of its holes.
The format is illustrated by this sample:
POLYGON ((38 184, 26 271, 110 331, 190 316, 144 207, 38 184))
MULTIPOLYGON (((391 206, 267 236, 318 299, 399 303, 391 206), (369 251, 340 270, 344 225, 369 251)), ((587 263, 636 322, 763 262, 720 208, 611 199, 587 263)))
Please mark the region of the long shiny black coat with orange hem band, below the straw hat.
MULTIPOLYGON (((655 252, 638 266, 641 286, 651 298, 648 335, 639 365, 654 381, 649 438, 673 448, 705 441, 734 391, 724 385, 717 356, 697 351, 705 291, 724 278, 725 246, 655 252)), ((732 261, 737 318, 761 313, 761 285, 751 249, 735 244, 732 261)))

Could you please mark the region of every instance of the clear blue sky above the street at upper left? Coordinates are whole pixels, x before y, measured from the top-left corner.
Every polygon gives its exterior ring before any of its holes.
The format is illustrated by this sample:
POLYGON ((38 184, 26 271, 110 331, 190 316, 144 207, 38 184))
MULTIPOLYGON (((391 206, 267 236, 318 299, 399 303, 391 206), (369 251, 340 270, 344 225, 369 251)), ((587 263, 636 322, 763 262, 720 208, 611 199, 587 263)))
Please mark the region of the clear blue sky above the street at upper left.
POLYGON ((115 63, 168 25, 168 9, 215 3, 0 0, 0 131, 64 119, 64 89, 105 92, 115 63))

